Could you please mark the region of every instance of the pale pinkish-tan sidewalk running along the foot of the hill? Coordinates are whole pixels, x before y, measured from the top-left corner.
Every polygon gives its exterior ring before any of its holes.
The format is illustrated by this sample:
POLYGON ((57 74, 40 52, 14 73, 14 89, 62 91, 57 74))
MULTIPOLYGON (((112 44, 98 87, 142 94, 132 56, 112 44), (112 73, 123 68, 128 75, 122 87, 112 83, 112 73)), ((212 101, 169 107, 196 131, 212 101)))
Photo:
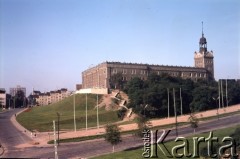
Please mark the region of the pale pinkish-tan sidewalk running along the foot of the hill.
MULTIPOLYGON (((221 108, 218 110, 219 115, 224 114, 224 113, 230 113, 230 112, 235 112, 235 111, 240 111, 240 104, 230 106, 227 108, 221 108)), ((21 113, 21 112, 19 112, 21 113)), ((18 113, 18 114, 19 114, 18 113)), ((209 110, 209 111, 204 111, 204 112, 199 112, 196 113, 195 116, 197 118, 206 118, 206 117, 211 117, 211 116, 216 116, 217 115, 217 110, 209 110)), ((183 116, 178 116, 178 122, 188 122, 189 115, 183 115, 183 116)), ((12 116, 11 118, 12 123, 20 130, 20 131, 26 131, 25 133, 29 135, 33 139, 34 145, 38 147, 43 147, 43 146, 49 146, 47 142, 49 140, 53 140, 53 133, 52 132, 38 132, 36 136, 26 130, 24 127, 22 127, 17 121, 15 116, 12 116)), ((170 117, 170 118, 164 118, 164 119, 157 119, 157 120, 151 120, 151 125, 153 127, 155 126, 163 126, 163 125, 169 125, 169 124, 174 124, 175 123, 175 117, 170 117)), ((120 125, 119 126, 121 131, 129 131, 129 130, 135 130, 137 129, 137 124, 132 123, 132 124, 127 124, 127 125, 120 125)), ((76 138, 76 137, 84 137, 84 136, 94 136, 98 134, 103 134, 105 132, 105 129, 103 127, 100 127, 99 129, 97 128, 89 128, 88 130, 81 129, 75 131, 67 131, 67 132, 60 132, 60 139, 66 139, 66 138, 76 138)), ((24 145, 21 145, 24 146, 24 145)), ((25 145, 29 146, 29 145, 25 145)))

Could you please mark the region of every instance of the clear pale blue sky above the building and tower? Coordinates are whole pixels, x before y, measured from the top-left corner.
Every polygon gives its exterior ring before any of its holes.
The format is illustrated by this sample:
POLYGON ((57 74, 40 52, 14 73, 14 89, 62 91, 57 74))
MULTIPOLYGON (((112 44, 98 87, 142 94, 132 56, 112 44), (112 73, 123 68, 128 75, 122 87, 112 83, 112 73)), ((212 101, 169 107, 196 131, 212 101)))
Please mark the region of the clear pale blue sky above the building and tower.
POLYGON ((0 88, 68 88, 105 61, 194 66, 202 34, 215 78, 240 79, 239 0, 0 0, 0 88))

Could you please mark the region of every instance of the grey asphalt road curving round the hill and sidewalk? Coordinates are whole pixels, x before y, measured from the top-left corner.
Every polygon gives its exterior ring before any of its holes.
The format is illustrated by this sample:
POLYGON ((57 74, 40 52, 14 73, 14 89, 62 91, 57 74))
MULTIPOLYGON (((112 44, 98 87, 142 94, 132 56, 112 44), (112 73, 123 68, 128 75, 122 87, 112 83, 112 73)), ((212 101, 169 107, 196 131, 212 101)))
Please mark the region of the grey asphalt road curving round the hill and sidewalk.
MULTIPOLYGON (((4 156, 9 158, 54 158, 53 145, 39 147, 32 145, 32 147, 18 148, 24 143, 33 142, 24 132, 19 131, 10 121, 18 109, 8 112, 0 113, 0 142, 5 147, 6 152, 4 156)), ((208 122, 199 123, 199 128, 196 132, 208 132, 223 127, 240 124, 240 115, 232 115, 220 120, 212 120, 208 122)), ((159 132, 161 133, 161 131, 159 132)), ((193 129, 190 127, 182 127, 178 129, 179 136, 192 135, 193 129)), ((159 135, 160 136, 160 135, 159 135)), ((175 138, 175 130, 171 131, 166 140, 175 138)), ((132 147, 143 145, 142 139, 128 135, 124 136, 123 141, 115 147, 116 151, 122 151, 132 147)), ((103 139, 84 141, 78 143, 65 143, 58 147, 59 158, 86 158, 106 154, 111 152, 112 147, 103 139)))

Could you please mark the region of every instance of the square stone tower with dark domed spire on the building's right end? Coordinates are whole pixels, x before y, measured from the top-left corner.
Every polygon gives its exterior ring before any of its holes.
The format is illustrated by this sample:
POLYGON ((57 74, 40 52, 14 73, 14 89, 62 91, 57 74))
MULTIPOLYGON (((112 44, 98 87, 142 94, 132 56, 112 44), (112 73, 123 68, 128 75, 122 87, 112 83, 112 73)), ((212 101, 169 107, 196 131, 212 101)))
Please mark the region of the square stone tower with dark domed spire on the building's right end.
POLYGON ((214 61, 213 51, 207 50, 207 39, 203 33, 203 22, 202 22, 202 37, 199 40, 199 52, 194 54, 195 67, 205 68, 208 70, 208 78, 214 79, 214 61))

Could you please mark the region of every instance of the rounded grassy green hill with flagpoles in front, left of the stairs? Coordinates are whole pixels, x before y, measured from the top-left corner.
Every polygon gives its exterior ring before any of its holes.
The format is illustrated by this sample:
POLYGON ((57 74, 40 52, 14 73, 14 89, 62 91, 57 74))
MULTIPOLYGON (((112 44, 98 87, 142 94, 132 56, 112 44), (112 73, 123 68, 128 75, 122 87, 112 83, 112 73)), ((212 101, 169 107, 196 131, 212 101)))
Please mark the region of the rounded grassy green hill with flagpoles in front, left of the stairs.
MULTIPOLYGON (((100 99, 100 98, 99 98, 100 99)), ((99 100, 100 101, 100 100, 99 100)), ((88 95, 88 127, 97 126, 97 105, 96 95, 88 95)), ((86 95, 75 96, 76 105, 76 127, 86 127, 86 95)), ((52 121, 57 121, 57 112, 60 115, 60 129, 74 129, 73 119, 73 96, 70 96, 58 103, 47 106, 29 108, 17 116, 17 121, 28 130, 52 131, 52 121)), ((99 109, 99 124, 107 124, 119 121, 116 111, 99 109)))

